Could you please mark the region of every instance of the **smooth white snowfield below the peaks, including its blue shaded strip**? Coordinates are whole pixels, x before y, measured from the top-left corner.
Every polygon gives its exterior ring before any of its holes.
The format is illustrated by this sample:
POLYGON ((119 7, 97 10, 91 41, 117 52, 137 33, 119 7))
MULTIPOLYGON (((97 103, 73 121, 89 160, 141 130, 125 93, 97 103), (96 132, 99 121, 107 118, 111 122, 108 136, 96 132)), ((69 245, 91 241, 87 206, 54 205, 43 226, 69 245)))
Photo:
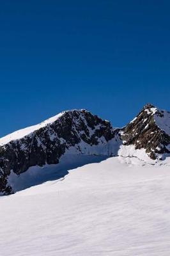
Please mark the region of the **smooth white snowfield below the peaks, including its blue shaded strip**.
POLYGON ((169 256, 169 166, 75 157, 10 177, 36 186, 0 197, 1 255, 169 256))

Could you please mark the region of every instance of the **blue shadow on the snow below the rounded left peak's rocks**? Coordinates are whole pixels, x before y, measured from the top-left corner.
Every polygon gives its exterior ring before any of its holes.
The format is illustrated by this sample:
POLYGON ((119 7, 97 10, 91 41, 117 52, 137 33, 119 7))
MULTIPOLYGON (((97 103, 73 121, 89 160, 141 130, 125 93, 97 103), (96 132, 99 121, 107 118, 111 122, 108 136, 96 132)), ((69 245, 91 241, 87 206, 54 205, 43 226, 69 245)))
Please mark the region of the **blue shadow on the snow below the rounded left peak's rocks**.
POLYGON ((62 179, 68 175, 70 170, 86 164, 100 163, 107 158, 108 156, 65 155, 61 157, 58 164, 47 164, 43 167, 33 166, 20 175, 11 173, 8 182, 13 191, 17 192, 50 180, 62 179))

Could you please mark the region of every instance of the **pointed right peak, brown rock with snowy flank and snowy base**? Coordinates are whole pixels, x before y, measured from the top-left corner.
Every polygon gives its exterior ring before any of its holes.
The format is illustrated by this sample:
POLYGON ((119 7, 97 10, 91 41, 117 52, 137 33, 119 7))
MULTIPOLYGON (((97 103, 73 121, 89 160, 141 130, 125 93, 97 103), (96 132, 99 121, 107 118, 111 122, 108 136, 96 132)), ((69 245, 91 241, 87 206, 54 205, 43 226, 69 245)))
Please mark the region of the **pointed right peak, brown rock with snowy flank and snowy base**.
MULTIPOLYGON (((170 154, 170 113, 146 104, 121 133, 119 155, 163 160, 170 154)), ((153 162, 154 163, 154 162, 153 162)))

